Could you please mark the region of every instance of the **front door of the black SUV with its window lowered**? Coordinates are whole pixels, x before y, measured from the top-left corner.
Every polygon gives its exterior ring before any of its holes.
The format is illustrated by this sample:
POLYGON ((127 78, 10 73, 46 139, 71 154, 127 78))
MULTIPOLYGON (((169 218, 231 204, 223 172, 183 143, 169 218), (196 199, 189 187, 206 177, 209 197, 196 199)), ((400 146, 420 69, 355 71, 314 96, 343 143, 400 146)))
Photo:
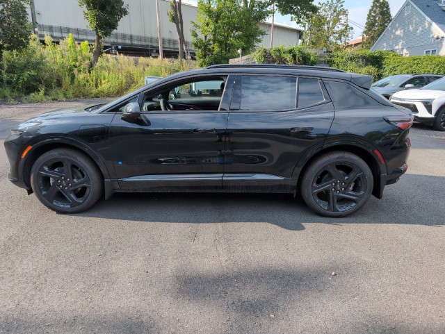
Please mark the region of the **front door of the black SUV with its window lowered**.
POLYGON ((139 99, 141 118, 118 112, 111 123, 111 151, 121 190, 205 191, 222 187, 227 111, 220 110, 225 78, 149 92, 139 99), (216 81, 220 81, 218 90, 216 81), (200 87, 199 92, 191 87, 200 87))

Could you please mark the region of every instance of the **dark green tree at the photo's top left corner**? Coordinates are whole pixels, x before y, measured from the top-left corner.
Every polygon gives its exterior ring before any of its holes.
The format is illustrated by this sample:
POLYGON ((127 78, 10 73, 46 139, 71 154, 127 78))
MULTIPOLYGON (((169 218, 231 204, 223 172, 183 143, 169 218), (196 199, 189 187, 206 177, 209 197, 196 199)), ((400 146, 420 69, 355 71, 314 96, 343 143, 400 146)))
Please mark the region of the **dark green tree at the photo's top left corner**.
POLYGON ((0 58, 3 51, 26 47, 32 32, 27 0, 0 0, 0 58))

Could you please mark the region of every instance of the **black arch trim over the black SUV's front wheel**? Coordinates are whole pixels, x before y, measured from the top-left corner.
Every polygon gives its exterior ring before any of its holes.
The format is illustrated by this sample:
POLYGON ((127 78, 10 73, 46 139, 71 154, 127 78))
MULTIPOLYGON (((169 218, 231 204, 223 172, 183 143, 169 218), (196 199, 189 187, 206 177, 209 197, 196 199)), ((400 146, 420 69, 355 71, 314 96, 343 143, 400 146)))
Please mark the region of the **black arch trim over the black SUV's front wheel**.
POLYGON ((19 163, 19 178, 21 178, 26 187, 31 190, 31 169, 33 167, 34 162, 42 156, 42 154, 51 151, 52 149, 74 149, 75 151, 79 151, 80 153, 85 154, 88 158, 90 158, 99 171, 101 172, 104 179, 111 178, 110 173, 108 172, 108 168, 104 164, 102 158, 100 158, 95 151, 86 147, 82 142, 78 142, 76 140, 67 140, 65 138, 49 138, 47 140, 42 140, 36 144, 31 145, 32 149, 29 151, 28 155, 25 159, 22 159, 19 163))

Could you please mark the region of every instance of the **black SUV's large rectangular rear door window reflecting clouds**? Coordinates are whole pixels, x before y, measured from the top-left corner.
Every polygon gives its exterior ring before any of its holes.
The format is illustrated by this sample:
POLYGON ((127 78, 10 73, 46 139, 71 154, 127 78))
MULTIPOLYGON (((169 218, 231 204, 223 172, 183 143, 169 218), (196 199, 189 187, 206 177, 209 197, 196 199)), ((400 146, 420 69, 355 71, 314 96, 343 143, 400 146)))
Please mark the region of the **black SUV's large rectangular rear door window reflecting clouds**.
POLYGON ((240 110, 289 110, 296 108, 297 78, 243 76, 240 110))

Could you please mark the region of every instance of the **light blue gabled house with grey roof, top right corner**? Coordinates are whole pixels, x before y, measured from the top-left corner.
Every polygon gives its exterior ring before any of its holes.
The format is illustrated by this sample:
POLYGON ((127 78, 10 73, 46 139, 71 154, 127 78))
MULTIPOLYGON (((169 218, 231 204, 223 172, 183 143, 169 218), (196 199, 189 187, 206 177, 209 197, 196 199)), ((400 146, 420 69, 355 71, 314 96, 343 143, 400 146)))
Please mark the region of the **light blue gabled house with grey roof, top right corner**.
POLYGON ((407 0, 371 51, 445 56, 445 0, 407 0))

